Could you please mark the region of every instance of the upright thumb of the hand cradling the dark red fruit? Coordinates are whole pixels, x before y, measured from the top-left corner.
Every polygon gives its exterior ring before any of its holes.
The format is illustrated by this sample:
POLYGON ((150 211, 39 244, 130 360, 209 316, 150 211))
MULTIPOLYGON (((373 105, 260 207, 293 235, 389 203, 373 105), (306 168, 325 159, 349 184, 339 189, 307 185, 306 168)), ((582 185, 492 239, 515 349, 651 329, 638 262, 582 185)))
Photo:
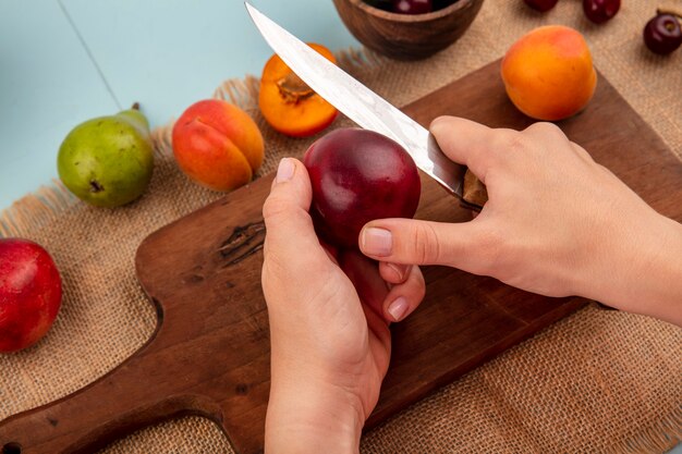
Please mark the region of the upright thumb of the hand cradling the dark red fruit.
POLYGON ((313 189, 305 165, 296 159, 283 158, 270 195, 263 205, 266 260, 277 258, 295 266, 296 260, 308 254, 326 256, 308 213, 312 199, 313 189))

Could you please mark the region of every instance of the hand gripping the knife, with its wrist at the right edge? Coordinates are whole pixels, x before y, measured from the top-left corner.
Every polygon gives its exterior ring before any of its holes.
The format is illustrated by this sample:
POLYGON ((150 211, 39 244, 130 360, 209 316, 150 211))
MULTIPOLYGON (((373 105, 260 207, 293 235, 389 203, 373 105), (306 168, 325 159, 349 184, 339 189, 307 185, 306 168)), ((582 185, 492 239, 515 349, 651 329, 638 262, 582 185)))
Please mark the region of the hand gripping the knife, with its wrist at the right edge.
MULTIPOLYGON (((581 295, 682 324, 682 228, 654 211, 557 126, 492 130, 440 118, 443 152, 487 186, 471 222, 369 222, 368 257, 448 265, 549 296, 581 295)), ((618 150, 612 150, 617 154, 618 150)))

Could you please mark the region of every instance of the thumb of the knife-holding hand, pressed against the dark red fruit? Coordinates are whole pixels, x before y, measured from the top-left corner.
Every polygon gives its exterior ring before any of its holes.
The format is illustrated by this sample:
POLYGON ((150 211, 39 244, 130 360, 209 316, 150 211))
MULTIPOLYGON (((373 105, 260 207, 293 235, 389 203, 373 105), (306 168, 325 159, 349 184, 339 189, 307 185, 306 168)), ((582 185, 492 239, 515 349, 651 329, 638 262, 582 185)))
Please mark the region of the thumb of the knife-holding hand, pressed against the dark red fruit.
POLYGON ((476 248, 476 221, 441 223, 414 219, 379 219, 360 234, 360 248, 380 261, 409 265, 446 265, 470 269, 476 248))

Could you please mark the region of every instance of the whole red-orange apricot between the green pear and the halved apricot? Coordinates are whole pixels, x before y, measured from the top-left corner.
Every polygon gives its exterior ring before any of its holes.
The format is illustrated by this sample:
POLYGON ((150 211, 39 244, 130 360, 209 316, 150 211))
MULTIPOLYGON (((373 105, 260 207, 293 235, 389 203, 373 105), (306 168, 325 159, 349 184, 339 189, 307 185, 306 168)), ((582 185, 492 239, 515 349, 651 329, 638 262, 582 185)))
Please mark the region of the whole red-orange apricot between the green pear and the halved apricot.
POLYGON ((190 106, 175 122, 172 139, 180 169, 214 191, 248 183, 265 155, 258 125, 242 109, 221 99, 190 106))

